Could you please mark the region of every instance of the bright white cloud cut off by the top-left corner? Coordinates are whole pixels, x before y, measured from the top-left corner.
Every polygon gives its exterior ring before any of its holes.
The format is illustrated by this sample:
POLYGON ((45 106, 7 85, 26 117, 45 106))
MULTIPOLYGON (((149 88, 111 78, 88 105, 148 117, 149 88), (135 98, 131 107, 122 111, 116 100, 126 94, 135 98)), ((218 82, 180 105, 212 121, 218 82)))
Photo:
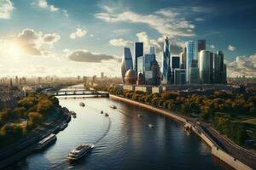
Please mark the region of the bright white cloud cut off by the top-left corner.
POLYGON ((0 19, 8 20, 13 10, 14 4, 10 0, 0 0, 0 19))

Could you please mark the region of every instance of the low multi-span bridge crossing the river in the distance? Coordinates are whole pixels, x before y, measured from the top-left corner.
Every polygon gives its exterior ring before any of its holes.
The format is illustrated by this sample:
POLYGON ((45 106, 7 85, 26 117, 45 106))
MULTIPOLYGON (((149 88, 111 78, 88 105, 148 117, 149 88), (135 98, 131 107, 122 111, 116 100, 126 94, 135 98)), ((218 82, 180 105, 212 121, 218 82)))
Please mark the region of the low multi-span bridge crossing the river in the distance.
POLYGON ((85 95, 85 96, 96 96, 96 97, 109 97, 108 92, 96 91, 96 90, 86 90, 86 89, 67 89, 60 90, 53 93, 55 96, 69 96, 69 95, 85 95))

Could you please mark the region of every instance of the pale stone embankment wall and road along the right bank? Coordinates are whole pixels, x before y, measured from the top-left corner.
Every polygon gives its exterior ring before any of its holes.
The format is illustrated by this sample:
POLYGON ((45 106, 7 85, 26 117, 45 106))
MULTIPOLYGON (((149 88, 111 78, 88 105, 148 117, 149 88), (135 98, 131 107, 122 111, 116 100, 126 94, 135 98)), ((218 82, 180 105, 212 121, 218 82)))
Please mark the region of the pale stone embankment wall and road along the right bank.
POLYGON ((256 156, 251 155, 247 150, 241 150, 237 148, 236 145, 227 142, 226 139, 218 134, 214 133, 214 129, 207 123, 201 123, 200 125, 196 123, 196 120, 186 116, 177 115, 171 111, 165 111, 160 108, 155 108, 151 105, 146 105, 139 103, 131 99, 121 98, 119 96, 110 95, 110 99, 116 99, 124 101, 125 103, 131 105, 137 105, 148 109, 150 111, 155 111, 162 115, 174 118, 179 122, 186 123, 187 127, 190 127, 197 135, 201 137, 212 149, 212 155, 218 157, 220 160, 224 161, 230 167, 239 170, 251 170, 256 169, 256 156), (237 153, 236 153, 237 152, 237 153))

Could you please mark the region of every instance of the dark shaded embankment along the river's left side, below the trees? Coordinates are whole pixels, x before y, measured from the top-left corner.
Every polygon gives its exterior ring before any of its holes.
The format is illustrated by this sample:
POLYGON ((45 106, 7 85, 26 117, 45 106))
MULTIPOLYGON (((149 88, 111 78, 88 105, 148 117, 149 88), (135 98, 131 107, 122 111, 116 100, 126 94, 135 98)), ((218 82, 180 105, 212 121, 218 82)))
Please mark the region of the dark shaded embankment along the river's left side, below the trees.
POLYGON ((26 138, 19 139, 15 144, 10 144, 0 150, 0 169, 8 167, 23 157, 31 154, 41 139, 44 139, 49 133, 58 133, 59 129, 57 127, 63 122, 69 122, 71 120, 67 108, 61 108, 60 106, 56 108, 56 110, 61 111, 61 113, 51 122, 43 123, 39 127, 33 129, 26 138))

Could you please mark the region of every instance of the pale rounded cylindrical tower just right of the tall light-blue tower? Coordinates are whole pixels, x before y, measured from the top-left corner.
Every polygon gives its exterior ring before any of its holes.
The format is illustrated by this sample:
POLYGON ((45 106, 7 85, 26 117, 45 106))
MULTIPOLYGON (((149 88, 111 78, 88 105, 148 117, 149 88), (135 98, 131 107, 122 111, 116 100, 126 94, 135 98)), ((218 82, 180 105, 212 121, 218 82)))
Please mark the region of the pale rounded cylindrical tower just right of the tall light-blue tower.
POLYGON ((203 84, 210 84, 213 82, 213 54, 207 50, 200 52, 200 82, 203 84))

